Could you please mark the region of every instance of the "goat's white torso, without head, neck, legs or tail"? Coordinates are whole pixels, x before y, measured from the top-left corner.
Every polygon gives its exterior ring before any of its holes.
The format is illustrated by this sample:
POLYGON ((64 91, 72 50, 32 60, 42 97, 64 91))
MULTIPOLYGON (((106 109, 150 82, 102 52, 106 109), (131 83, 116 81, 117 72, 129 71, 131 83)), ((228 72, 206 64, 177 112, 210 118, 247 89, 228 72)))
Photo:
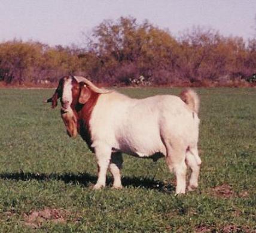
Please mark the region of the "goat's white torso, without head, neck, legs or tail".
POLYGON ((162 153, 167 156, 163 137, 197 144, 197 114, 173 95, 133 99, 118 92, 100 95, 92 112, 92 147, 106 144, 116 151, 141 157, 162 153), (106 104, 107 103, 107 104, 106 104))

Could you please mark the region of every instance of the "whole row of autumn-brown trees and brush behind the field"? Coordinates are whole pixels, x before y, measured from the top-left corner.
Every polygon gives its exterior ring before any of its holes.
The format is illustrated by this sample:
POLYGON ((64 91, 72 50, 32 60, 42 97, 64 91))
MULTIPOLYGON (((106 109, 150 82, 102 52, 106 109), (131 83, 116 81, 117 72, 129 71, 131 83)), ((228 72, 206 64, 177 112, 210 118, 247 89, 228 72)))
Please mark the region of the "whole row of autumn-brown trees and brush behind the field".
POLYGON ((87 36, 85 46, 39 42, 0 44, 0 81, 57 82, 66 74, 109 85, 219 85, 255 82, 256 38, 224 37, 200 27, 175 38, 167 30, 135 18, 106 20, 87 36))

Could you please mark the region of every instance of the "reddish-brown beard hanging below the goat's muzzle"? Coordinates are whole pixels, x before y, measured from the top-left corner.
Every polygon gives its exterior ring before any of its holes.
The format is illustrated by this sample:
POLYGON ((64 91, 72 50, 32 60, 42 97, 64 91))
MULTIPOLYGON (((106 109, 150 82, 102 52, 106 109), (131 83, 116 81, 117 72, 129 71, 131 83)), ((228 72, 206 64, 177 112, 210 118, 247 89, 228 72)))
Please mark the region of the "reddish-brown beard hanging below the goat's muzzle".
POLYGON ((60 114, 66 126, 66 132, 71 138, 75 138, 77 136, 77 117, 75 117, 74 112, 72 110, 60 110, 60 114))

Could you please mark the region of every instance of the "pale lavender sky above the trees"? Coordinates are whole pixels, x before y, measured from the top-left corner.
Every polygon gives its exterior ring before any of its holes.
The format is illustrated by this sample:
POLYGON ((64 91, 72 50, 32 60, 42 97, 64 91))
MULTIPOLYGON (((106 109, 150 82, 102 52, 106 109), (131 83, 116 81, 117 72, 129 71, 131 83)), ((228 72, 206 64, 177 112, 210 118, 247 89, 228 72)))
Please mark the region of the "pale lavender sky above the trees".
POLYGON ((81 44, 103 20, 148 20, 178 37, 201 26, 223 36, 256 35, 256 0, 0 0, 0 42, 81 44))

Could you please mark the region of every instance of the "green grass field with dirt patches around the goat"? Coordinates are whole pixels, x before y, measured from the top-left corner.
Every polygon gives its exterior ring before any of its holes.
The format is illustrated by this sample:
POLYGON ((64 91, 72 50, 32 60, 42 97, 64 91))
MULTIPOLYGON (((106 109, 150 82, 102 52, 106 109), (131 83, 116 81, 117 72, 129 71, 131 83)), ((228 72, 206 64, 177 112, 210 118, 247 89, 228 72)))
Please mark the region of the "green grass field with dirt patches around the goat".
MULTIPOLYGON (((197 89, 199 188, 175 196, 165 161, 124 156, 121 190, 66 135, 53 89, 0 89, 0 232, 255 232, 256 89, 197 89), (36 228, 36 229, 35 229, 36 228)), ((181 89, 119 89, 131 97, 181 89)), ((59 108, 59 106, 58 106, 59 108)))

